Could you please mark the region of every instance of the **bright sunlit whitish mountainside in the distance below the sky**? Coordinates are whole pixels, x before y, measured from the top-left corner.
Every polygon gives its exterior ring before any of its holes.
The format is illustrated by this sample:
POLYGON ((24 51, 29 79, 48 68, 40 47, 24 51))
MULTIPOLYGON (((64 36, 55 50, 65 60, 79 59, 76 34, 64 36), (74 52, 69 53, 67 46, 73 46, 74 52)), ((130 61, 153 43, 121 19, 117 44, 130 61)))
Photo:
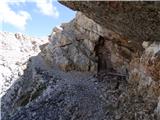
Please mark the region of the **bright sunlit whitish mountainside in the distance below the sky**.
POLYGON ((40 52, 39 46, 45 42, 20 33, 0 32, 0 95, 23 75, 26 62, 40 52))

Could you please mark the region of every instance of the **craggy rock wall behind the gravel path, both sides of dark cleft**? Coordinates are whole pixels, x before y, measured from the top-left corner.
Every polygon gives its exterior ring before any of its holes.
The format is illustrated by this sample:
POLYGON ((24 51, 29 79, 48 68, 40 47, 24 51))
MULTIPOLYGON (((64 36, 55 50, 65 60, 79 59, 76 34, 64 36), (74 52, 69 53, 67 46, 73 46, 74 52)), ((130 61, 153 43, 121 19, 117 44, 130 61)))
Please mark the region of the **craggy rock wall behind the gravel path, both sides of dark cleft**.
POLYGON ((111 67, 122 71, 132 52, 136 51, 135 45, 79 12, 71 22, 62 24, 61 29, 53 29, 49 44, 41 46, 41 54, 50 66, 57 65, 65 71, 97 71, 101 54, 106 61, 106 69, 111 67), (114 39, 116 42, 111 42, 114 39), (123 42, 123 46, 118 45, 123 42))

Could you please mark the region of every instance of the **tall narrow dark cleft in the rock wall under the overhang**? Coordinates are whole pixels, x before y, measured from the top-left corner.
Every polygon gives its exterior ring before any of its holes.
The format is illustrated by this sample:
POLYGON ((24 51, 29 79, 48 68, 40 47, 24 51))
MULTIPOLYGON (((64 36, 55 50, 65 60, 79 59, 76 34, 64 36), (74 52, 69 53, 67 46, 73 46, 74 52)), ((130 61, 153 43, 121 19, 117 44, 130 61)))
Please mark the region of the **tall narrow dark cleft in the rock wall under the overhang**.
POLYGON ((95 46, 97 60, 97 73, 108 73, 113 72, 113 66, 111 62, 111 52, 107 48, 105 38, 100 36, 95 46))

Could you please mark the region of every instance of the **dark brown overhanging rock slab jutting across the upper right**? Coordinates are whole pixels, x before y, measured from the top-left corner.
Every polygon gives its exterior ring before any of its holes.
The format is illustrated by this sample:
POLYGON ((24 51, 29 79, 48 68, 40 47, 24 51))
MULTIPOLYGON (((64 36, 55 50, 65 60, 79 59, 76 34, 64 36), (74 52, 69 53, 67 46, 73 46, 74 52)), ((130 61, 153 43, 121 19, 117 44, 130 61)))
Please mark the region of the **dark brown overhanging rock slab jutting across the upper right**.
POLYGON ((137 42, 160 40, 159 2, 59 1, 137 42))

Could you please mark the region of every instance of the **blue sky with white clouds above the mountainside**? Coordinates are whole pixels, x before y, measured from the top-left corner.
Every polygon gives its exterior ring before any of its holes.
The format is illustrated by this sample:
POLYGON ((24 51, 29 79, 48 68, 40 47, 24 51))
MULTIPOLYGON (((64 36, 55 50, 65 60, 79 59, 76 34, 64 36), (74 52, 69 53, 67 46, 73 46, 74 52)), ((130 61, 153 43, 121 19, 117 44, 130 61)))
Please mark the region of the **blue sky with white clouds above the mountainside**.
POLYGON ((69 22, 76 12, 52 0, 3 0, 0 2, 1 31, 43 37, 55 26, 69 22))

